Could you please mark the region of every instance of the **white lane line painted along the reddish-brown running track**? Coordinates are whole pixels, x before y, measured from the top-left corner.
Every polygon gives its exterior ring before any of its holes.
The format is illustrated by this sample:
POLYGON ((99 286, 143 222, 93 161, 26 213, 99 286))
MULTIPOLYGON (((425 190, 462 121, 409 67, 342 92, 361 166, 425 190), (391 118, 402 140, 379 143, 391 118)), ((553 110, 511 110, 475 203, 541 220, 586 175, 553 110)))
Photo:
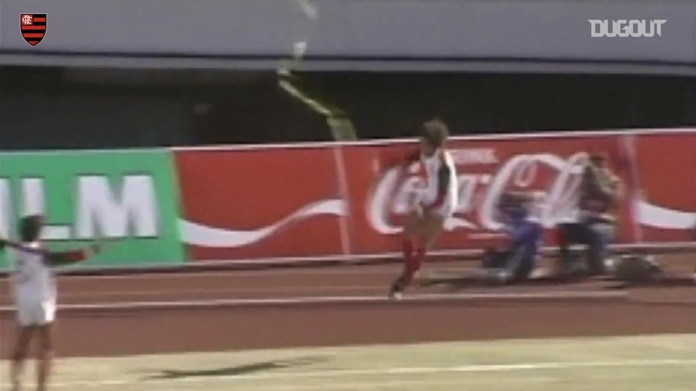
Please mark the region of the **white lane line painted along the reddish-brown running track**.
MULTIPOLYGON (((399 302, 427 301, 474 301, 474 300, 534 300, 534 299, 622 299, 628 298, 625 291, 557 291, 538 293, 462 293, 462 294, 411 294, 399 302)), ((386 296, 326 296, 326 297, 290 297, 269 299, 206 299, 174 301, 124 301, 119 303, 85 303, 59 304, 58 310, 130 310, 147 308, 209 308, 223 306, 279 306, 297 304, 326 303, 387 303, 386 296)), ((0 306, 0 313, 14 311, 14 306, 0 306)))

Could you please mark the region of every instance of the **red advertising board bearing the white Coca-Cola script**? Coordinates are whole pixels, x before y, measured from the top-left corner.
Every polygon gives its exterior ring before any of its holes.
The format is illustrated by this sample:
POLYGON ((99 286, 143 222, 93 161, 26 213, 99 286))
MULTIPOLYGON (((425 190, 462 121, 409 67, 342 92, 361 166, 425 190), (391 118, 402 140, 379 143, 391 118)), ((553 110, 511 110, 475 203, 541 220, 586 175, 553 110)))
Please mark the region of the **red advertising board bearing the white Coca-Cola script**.
MULTIPOLYGON (((481 249, 503 238, 496 205, 506 190, 536 192, 533 213, 547 228, 546 244, 554 244, 558 222, 576 219, 578 186, 588 154, 606 153, 614 172, 633 191, 624 146, 619 138, 519 138, 452 140, 448 145, 457 167, 459 205, 445 223, 438 249, 481 249)), ((399 233, 411 205, 411 194, 423 185, 420 165, 393 166, 394 156, 418 148, 408 145, 365 146, 344 152, 351 203, 351 248, 356 253, 397 251, 399 233)), ((628 203, 619 208, 630 222, 628 203)), ((635 238, 633 224, 620 224, 618 240, 635 238)))

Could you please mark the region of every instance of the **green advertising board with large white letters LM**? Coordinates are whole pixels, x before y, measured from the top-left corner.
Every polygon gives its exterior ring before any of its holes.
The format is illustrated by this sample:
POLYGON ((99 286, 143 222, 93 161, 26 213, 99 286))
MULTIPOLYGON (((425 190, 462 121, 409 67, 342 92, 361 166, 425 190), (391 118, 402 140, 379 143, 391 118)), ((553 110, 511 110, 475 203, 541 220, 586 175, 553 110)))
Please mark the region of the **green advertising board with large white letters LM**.
MULTIPOLYGON (((0 236, 17 238, 17 219, 42 213, 52 250, 104 239, 85 266, 184 263, 179 206, 164 149, 0 153, 0 236)), ((11 267, 10 254, 0 254, 0 269, 11 267)))

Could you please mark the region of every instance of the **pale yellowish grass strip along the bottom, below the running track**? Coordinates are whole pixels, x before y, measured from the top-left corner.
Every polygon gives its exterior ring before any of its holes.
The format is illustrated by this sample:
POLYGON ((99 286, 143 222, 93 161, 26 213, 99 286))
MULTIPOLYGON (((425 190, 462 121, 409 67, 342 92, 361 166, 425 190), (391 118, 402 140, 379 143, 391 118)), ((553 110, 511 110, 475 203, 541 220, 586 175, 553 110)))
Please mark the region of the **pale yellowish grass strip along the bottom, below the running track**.
POLYGON ((696 389, 696 334, 70 358, 58 361, 53 383, 96 391, 687 391, 696 389))

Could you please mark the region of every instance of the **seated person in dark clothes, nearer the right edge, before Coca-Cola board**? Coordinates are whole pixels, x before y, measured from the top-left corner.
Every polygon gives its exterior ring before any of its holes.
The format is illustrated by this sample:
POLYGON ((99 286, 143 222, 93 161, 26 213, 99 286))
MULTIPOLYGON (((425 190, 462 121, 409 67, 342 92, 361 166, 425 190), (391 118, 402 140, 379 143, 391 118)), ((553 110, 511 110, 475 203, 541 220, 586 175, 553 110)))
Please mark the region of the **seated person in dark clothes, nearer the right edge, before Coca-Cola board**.
POLYGON ((569 247, 587 244, 587 274, 605 274, 609 244, 615 236, 616 209, 621 181, 607 165, 603 154, 590 156, 580 185, 579 216, 575 223, 558 225, 562 274, 576 274, 579 265, 569 247))

